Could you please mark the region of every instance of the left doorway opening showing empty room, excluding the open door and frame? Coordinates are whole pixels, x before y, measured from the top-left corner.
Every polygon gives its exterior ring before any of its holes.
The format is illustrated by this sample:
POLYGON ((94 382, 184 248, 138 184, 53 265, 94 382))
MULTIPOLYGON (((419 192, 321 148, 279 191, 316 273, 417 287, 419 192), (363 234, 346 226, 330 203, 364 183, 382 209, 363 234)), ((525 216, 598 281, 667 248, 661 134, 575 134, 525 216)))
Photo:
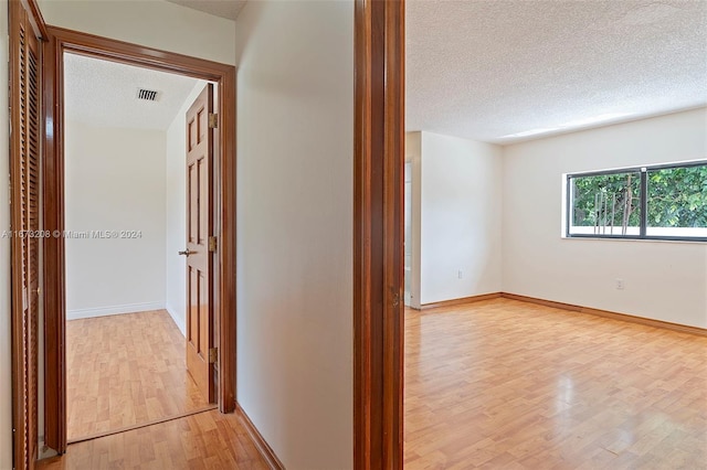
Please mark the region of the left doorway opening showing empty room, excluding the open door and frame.
POLYGON ((213 371, 202 391, 198 364, 187 362, 188 260, 179 255, 188 111, 213 84, 68 52, 63 70, 71 444, 215 407, 213 371))

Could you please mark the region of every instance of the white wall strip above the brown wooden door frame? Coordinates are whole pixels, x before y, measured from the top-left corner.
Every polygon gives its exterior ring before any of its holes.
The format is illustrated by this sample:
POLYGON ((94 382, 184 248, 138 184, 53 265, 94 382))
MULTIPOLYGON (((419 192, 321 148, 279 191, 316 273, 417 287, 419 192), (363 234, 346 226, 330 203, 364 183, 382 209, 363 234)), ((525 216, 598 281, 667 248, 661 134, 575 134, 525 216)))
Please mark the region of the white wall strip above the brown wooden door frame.
POLYGON ((46 24, 233 64, 235 23, 163 0, 39 0, 46 24))

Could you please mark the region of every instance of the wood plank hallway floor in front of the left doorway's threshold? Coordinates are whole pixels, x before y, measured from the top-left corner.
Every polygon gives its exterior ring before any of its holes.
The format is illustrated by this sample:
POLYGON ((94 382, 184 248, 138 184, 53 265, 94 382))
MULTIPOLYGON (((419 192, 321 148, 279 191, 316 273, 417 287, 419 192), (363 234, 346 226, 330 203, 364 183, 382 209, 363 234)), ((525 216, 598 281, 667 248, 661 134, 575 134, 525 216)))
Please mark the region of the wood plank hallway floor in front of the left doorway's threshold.
POLYGON ((218 410, 68 446, 38 469, 243 469, 270 467, 235 414, 218 410))

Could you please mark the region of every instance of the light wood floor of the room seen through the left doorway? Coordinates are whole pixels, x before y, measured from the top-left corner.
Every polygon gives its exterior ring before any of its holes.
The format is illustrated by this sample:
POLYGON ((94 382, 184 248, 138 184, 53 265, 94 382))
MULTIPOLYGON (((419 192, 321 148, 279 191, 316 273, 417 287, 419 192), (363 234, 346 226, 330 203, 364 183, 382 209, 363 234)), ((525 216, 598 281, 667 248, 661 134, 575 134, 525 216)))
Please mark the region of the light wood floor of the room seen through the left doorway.
POLYGON ((209 407, 165 310, 66 322, 70 441, 209 407))

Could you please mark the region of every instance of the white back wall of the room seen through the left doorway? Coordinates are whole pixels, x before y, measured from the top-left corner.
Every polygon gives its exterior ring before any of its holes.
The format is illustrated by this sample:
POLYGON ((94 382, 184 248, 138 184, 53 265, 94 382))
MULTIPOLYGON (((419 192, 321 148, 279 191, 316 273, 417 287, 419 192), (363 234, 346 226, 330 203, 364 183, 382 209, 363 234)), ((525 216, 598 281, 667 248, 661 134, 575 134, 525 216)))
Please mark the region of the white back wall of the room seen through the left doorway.
MULTIPOLYGON (((68 105, 68 104, 67 104, 68 105)), ((65 126, 66 318, 165 308, 166 149, 160 130, 65 126)))

